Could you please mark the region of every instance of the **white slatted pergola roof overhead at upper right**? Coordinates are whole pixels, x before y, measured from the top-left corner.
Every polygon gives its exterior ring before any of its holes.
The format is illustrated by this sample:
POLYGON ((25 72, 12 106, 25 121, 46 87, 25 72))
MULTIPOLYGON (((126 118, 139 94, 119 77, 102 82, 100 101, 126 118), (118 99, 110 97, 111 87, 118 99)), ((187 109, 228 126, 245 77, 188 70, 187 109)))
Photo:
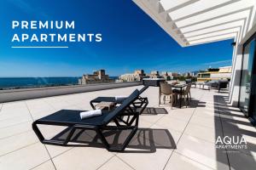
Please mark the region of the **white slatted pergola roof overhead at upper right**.
POLYGON ((235 39, 255 22, 256 0, 133 0, 182 47, 235 39))

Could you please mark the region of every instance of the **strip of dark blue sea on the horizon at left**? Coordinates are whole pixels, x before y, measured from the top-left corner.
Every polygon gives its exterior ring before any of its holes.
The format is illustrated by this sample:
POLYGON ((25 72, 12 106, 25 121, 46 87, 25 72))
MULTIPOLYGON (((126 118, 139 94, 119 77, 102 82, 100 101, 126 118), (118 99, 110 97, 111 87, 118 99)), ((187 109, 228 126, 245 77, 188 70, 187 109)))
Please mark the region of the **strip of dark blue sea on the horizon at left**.
MULTIPOLYGON (((0 77, 0 90, 79 84, 80 77, 0 77)), ((110 77, 117 79, 118 77, 110 77)))

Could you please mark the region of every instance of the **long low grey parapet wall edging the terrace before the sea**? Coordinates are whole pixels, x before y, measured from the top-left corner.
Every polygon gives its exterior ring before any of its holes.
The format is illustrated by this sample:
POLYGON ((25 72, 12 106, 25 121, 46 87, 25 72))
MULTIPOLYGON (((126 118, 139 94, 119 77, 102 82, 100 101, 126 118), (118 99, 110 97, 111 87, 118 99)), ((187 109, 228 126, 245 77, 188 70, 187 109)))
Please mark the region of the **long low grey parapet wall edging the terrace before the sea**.
POLYGON ((10 90, 0 90, 0 103, 17 101, 22 99, 37 99, 65 94, 78 94, 97 90, 112 88, 125 88, 142 85, 143 82, 113 82, 90 85, 73 85, 45 88, 20 88, 10 90))

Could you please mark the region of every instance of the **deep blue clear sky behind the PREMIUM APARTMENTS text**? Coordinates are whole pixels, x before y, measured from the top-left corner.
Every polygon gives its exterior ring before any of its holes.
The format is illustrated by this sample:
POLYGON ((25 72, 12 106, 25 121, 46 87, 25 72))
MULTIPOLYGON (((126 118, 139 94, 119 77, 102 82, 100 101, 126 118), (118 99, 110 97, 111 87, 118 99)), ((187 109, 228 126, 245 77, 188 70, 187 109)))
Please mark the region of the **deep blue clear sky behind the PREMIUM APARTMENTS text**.
POLYGON ((119 76, 136 69, 185 72, 231 65, 233 40, 182 48, 131 0, 2 0, 0 22, 0 77, 79 77, 98 69, 119 76), (11 29, 12 20, 75 20, 74 33, 100 32, 102 42, 11 48, 14 33, 24 33, 11 29))

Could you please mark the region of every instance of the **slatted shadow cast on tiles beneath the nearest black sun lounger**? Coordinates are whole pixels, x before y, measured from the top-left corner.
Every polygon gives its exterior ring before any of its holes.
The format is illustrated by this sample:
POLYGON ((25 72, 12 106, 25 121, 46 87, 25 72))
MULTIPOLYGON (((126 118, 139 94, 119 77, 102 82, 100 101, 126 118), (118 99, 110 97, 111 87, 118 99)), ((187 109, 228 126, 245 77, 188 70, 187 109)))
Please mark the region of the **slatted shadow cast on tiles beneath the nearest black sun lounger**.
MULTIPOLYGON (((58 133, 52 139, 64 141, 67 138, 69 129, 58 133)), ((127 135, 131 131, 103 131, 108 143, 111 146, 119 147, 123 144, 127 135)), ((92 130, 77 130, 67 144, 73 147, 97 147, 104 148, 101 139, 92 130)), ((62 147, 62 146, 59 146, 62 147)), ((176 144, 172 134, 167 129, 138 128, 137 133, 131 139, 130 144, 123 151, 125 153, 154 153, 156 149, 176 149, 176 144)))

